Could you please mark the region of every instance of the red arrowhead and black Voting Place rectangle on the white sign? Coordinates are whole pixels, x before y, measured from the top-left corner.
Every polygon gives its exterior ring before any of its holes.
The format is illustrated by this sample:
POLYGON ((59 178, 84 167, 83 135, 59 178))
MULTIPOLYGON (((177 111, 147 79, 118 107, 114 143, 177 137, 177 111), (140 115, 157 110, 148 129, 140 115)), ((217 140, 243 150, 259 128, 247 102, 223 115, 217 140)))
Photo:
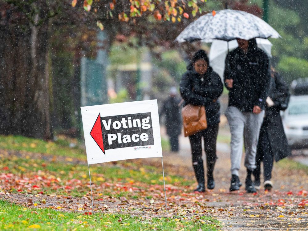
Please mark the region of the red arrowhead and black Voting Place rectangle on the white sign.
POLYGON ((154 145, 151 113, 106 117, 99 114, 90 135, 104 154, 105 150, 115 148, 151 148, 154 145))

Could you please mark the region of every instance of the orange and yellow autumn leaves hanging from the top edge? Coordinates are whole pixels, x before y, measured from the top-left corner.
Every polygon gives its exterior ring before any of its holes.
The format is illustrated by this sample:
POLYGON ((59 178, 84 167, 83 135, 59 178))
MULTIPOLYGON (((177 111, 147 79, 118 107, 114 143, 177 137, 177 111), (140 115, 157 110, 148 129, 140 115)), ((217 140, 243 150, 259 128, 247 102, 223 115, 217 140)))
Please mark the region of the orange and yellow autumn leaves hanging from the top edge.
POLYGON ((82 6, 87 12, 92 11, 94 14, 99 14, 101 19, 97 22, 97 26, 103 30, 103 19, 117 17, 120 22, 135 21, 135 18, 154 17, 157 21, 181 22, 183 18, 189 18, 189 14, 193 17, 197 13, 202 13, 201 6, 204 0, 178 1, 178 0, 130 0, 125 1, 104 1, 93 0, 73 0, 73 7, 82 6), (79 4, 78 4, 79 3, 79 4), (106 12, 101 14, 102 12, 106 12))

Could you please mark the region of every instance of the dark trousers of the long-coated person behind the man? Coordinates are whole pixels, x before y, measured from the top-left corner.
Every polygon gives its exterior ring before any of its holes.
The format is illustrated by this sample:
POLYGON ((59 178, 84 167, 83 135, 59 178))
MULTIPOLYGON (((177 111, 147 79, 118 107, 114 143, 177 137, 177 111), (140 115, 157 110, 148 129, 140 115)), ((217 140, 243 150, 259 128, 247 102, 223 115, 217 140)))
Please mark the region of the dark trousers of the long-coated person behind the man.
POLYGON ((270 141, 266 130, 261 129, 260 140, 258 143, 258 149, 260 149, 261 154, 257 154, 256 165, 257 168, 254 170, 253 175, 256 180, 260 181, 261 174, 261 161, 263 161, 263 175, 264 181, 270 180, 272 178, 272 169, 274 163, 274 157, 272 150, 270 148, 270 141))

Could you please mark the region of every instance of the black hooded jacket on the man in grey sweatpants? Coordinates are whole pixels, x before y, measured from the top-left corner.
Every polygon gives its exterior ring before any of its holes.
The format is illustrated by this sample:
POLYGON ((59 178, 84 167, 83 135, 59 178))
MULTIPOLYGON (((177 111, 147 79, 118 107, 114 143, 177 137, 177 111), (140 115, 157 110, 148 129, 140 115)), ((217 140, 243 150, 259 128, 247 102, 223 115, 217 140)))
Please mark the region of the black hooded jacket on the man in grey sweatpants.
POLYGON ((249 40, 248 51, 231 51, 225 60, 224 79, 233 79, 229 90, 229 106, 251 112, 254 106, 264 109, 270 82, 269 58, 257 48, 255 40, 249 40))

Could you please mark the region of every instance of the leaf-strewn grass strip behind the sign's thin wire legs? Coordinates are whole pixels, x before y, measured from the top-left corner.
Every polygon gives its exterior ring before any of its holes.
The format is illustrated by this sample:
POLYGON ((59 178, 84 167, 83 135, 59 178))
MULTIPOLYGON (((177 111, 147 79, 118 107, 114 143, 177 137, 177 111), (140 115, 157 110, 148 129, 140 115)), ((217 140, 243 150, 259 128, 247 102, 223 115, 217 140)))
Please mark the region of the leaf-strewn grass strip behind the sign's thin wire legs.
MULTIPOLYGON (((148 185, 163 185, 164 179, 159 168, 153 166, 140 167, 130 162, 123 163, 123 166, 113 166, 110 164, 91 165, 92 184, 101 184, 104 182, 130 183, 138 187, 138 182, 141 182, 148 185)), ((86 183, 89 180, 88 166, 85 164, 45 162, 41 159, 32 159, 30 157, 20 158, 0 153, 0 169, 2 169, 2 173, 4 174, 12 173, 17 176, 27 176, 30 179, 36 179, 37 176, 43 177, 45 181, 59 186, 62 185, 63 187, 65 186, 65 182, 73 179, 82 180, 84 182, 84 186, 78 190, 61 191, 58 188, 54 189, 53 187, 45 186, 43 191, 47 194, 60 193, 62 195, 71 194, 73 196, 82 197, 89 190, 86 183)), ((173 184, 176 186, 188 186, 193 183, 191 180, 186 180, 183 177, 174 175, 165 176, 165 182, 166 184, 173 184)), ((15 189, 16 186, 12 185, 11 190, 15 189)), ((33 188, 23 188, 21 193, 29 193, 32 191, 35 190, 33 188)), ((39 191, 41 191, 41 189, 39 191)))

